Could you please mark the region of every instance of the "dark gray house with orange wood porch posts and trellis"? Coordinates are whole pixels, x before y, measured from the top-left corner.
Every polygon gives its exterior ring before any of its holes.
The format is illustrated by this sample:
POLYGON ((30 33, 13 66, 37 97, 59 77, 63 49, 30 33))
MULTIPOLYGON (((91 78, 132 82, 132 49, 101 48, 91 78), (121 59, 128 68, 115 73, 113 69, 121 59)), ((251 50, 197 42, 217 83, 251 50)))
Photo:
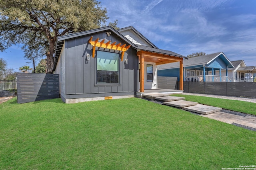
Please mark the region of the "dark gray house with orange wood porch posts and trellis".
POLYGON ((160 64, 177 62, 183 76, 184 58, 158 49, 134 27, 108 26, 58 37, 54 73, 66 103, 126 98, 157 89, 160 64))

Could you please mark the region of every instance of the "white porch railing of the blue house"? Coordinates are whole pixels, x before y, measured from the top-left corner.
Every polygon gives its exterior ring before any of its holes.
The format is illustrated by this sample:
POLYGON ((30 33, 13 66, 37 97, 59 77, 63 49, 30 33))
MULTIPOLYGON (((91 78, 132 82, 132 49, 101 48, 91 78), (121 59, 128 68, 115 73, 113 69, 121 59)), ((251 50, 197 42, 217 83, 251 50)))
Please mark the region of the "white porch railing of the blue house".
MULTIPOLYGON (((204 76, 187 76, 185 77, 186 82, 203 82, 204 76)), ((205 76, 206 82, 231 82, 231 79, 228 76, 205 76)))

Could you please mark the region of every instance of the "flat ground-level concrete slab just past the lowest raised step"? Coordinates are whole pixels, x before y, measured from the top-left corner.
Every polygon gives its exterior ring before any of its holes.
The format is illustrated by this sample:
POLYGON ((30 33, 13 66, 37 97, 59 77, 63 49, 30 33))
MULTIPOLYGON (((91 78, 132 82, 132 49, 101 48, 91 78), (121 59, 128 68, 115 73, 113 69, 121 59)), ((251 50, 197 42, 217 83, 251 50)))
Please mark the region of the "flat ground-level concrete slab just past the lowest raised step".
POLYGON ((200 116, 208 117, 210 119, 215 119, 215 120, 222 121, 222 122, 225 122, 225 123, 228 123, 228 124, 232 124, 232 123, 234 123, 236 121, 239 121, 240 119, 244 118, 244 116, 233 115, 233 114, 230 114, 230 113, 224 113, 222 111, 217 111, 217 112, 214 112, 214 113, 210 113, 208 115, 200 115, 200 116))

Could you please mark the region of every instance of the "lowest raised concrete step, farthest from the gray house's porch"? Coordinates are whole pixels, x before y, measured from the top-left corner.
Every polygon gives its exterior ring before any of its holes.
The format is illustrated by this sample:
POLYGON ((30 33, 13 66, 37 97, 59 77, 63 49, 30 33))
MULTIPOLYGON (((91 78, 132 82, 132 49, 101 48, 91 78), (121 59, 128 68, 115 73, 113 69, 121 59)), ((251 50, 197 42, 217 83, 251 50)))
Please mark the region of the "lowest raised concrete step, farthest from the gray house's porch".
POLYGON ((200 113, 200 114, 204 114, 204 115, 222 110, 222 108, 220 108, 220 107, 207 106, 207 105, 203 105, 203 104, 198 104, 198 105, 195 105, 195 106, 188 106, 188 107, 184 107, 182 109, 187 110, 187 111, 200 113))

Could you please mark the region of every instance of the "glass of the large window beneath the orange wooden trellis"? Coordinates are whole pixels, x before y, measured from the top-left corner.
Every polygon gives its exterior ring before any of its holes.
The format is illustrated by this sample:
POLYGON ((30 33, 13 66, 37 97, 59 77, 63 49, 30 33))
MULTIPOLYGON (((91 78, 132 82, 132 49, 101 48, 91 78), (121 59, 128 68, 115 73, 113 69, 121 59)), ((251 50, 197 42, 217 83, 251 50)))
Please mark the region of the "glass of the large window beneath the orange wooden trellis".
POLYGON ((119 54, 97 51, 97 84, 119 83, 119 54))

